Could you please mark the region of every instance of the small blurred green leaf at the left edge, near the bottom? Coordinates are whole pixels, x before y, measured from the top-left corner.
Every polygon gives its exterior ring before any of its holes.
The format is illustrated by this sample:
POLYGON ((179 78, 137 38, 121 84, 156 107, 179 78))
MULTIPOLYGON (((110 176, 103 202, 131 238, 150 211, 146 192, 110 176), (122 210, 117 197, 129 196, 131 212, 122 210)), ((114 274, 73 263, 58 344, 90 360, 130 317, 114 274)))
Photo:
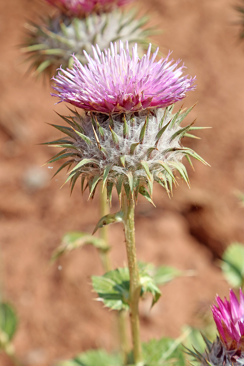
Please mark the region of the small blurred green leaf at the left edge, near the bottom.
POLYGON ((15 311, 8 303, 0 303, 0 329, 11 340, 17 328, 15 311))

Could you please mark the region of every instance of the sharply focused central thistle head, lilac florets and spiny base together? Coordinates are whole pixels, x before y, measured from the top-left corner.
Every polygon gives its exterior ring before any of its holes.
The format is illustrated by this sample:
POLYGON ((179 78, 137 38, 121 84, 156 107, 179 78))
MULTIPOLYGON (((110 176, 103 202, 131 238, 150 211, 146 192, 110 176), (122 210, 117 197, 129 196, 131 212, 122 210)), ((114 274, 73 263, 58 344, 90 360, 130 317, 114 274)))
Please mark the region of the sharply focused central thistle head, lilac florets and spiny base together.
POLYGON ((172 113, 173 103, 194 89, 194 79, 182 76, 183 67, 177 68, 179 61, 173 63, 169 56, 156 62, 157 51, 150 57, 151 45, 142 59, 136 50, 137 45, 131 57, 128 42, 125 49, 122 42, 119 49, 111 44, 104 53, 97 46, 93 58, 86 55, 87 66, 75 59, 72 70, 61 69, 62 74, 53 78, 59 94, 52 95, 85 110, 61 116, 69 127, 52 126, 68 138, 47 143, 63 148, 49 163, 69 159, 56 173, 75 165, 66 179, 71 191, 81 177, 82 191, 88 187, 91 198, 101 182, 110 201, 112 188, 120 200, 123 186, 128 198, 132 194, 137 199, 141 193, 152 202, 153 182, 169 193, 175 182, 173 171, 189 184, 182 157, 206 163, 180 142, 195 129, 195 121, 180 127, 192 108, 172 113))

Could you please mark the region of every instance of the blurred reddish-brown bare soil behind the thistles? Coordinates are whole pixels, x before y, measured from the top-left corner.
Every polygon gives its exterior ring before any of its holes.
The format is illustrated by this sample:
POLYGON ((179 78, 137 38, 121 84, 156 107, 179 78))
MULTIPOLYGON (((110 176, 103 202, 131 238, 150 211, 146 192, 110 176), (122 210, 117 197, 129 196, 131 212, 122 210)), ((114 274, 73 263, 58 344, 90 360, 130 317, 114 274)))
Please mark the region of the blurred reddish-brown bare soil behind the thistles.
MULTIPOLYGON (((244 210, 234 195, 244 190, 244 44, 239 42, 238 14, 232 0, 141 1, 141 12, 151 24, 164 29, 154 37, 160 49, 173 50, 190 75, 197 75, 197 89, 184 106, 199 101, 188 122, 198 117, 202 140, 185 138, 210 167, 194 162, 189 168, 192 189, 180 184, 169 199, 155 186, 156 208, 140 199, 136 209, 136 241, 140 260, 156 265, 194 269, 195 276, 167 284, 162 298, 149 312, 141 303, 143 340, 180 335, 182 325, 196 324, 199 307, 209 309, 216 292, 228 294, 216 261, 234 240, 244 242, 244 210)), ((71 198, 69 187, 60 186, 64 174, 50 181, 53 169, 39 168, 54 149, 36 145, 58 137, 45 124, 60 123, 53 112, 48 83, 25 76, 16 47, 23 23, 37 19, 47 4, 31 0, 0 2, 0 254, 1 293, 14 305, 19 326, 14 337, 16 354, 24 365, 48 366, 90 347, 116 347, 115 319, 90 292, 90 276, 102 274, 98 254, 85 247, 49 266, 62 235, 70 230, 92 232, 99 219, 98 201, 87 202, 80 187, 71 198), (42 187, 34 188, 39 176, 42 187), (58 266, 62 266, 62 270, 58 266), (112 333, 111 333, 112 332, 112 333), (111 336, 112 334, 112 336, 111 336)), ((112 211, 118 209, 117 200, 112 211)), ((123 231, 110 230, 114 266, 125 262, 123 231)), ((10 366, 4 356, 0 364, 10 366)))

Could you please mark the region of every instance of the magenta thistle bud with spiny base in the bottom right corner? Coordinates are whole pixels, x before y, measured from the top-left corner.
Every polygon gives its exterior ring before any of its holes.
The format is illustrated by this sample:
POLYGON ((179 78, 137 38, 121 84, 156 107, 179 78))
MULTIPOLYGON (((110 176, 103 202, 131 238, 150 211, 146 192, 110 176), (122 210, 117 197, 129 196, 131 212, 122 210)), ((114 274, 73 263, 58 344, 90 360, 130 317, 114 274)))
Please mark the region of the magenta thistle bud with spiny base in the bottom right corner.
POLYGON ((190 353, 202 366, 240 366, 244 364, 244 295, 240 288, 240 301, 230 290, 230 301, 216 297, 218 306, 212 306, 212 314, 219 337, 211 343, 205 337, 207 350, 190 353))

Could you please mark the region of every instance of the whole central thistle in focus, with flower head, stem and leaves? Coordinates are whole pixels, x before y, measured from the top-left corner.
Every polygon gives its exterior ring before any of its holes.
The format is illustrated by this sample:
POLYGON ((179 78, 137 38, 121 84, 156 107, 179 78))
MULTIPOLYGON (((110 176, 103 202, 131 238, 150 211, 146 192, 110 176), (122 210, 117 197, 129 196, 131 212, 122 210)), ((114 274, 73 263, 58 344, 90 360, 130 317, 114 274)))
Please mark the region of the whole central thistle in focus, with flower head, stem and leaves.
MULTIPOLYGON (((60 116, 68 126, 52 124, 66 137, 47 143, 62 149, 48 163, 67 159, 55 175, 68 167, 64 183, 71 183, 71 191, 78 178, 81 190, 88 188, 91 199, 99 184, 107 191, 110 202, 112 189, 117 191, 120 211, 102 217, 94 232, 111 223, 123 225, 128 268, 113 270, 99 278, 93 276, 93 288, 104 305, 130 312, 133 357, 129 359, 127 355, 124 364, 150 366, 152 363, 147 360, 150 347, 141 346, 138 302, 144 292, 151 292, 154 304, 161 292, 155 275, 137 262, 134 209, 139 193, 153 203, 154 181, 170 194, 173 183, 177 184, 176 172, 189 185, 182 164, 184 156, 190 164, 191 158, 206 164, 197 153, 181 144, 183 136, 191 137, 189 132, 201 128, 193 126, 195 121, 181 127, 193 107, 186 111, 181 107, 173 113, 174 103, 195 88, 195 78, 184 75, 184 66, 179 66, 179 60, 169 60, 170 53, 156 61, 158 49, 151 56, 151 45, 141 59, 137 44, 130 56, 129 42, 125 48, 120 41, 118 47, 114 42, 104 52, 98 46, 92 46, 92 51, 93 56, 84 51, 87 65, 83 66, 74 56, 73 68, 60 67, 58 75, 53 77, 56 92, 52 96, 73 105, 75 110, 69 108, 69 116, 60 116), (101 287, 102 283, 106 286, 101 287)), ((160 355, 160 362, 169 354, 160 355)))

